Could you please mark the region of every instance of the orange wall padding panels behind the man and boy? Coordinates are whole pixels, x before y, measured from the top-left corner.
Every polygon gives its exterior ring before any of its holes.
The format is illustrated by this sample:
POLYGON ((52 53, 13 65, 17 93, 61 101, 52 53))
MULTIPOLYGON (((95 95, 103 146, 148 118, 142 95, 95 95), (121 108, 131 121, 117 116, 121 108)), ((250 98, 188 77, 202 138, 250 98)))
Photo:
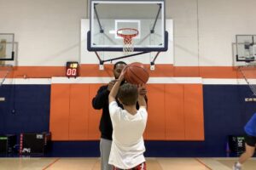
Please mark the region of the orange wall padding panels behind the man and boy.
MULTIPOLYGON (((101 84, 51 84, 52 140, 100 139, 102 111, 91 99, 101 84)), ((148 84, 144 139, 204 140, 202 84, 148 84)))

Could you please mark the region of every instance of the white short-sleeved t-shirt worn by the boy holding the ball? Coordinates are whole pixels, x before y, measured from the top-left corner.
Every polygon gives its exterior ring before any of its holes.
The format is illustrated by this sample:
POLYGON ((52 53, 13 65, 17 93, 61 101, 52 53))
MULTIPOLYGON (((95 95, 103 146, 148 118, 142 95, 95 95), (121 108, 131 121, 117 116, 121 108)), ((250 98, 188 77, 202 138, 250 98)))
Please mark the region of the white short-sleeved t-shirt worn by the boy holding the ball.
POLYGON ((108 163, 121 169, 130 169, 145 161, 143 132, 148 112, 140 108, 131 115, 122 110, 116 101, 109 104, 109 113, 113 125, 113 142, 108 163))

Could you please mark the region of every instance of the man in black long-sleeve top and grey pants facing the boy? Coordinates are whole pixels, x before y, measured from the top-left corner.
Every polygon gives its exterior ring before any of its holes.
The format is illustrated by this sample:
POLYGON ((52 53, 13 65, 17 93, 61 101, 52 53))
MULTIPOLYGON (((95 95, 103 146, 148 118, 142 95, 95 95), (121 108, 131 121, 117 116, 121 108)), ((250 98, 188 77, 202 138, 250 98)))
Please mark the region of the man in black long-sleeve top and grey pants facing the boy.
MULTIPOLYGON (((125 68, 126 63, 119 61, 113 65, 113 75, 114 80, 110 81, 108 85, 104 85, 99 88, 96 97, 92 99, 92 106, 96 110, 102 109, 102 118, 100 122, 101 131, 101 141, 100 141, 100 151, 101 151, 101 167, 102 170, 113 170, 113 167, 108 164, 108 157, 112 144, 112 133, 113 127, 108 111, 108 94, 113 88, 113 84, 118 80, 120 73, 125 68)), ((118 102, 118 105, 121 106, 118 102)))

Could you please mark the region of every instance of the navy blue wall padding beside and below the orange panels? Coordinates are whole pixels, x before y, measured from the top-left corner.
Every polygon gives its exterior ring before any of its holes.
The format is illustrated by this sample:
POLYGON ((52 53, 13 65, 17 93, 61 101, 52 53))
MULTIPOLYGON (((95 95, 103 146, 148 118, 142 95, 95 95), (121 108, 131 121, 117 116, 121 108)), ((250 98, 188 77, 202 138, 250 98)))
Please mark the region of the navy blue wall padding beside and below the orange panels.
MULTIPOLYGON (((50 85, 3 85, 0 95, 0 133, 49 132, 50 85)), ((204 85, 205 141, 145 141, 145 156, 226 156, 227 136, 244 134, 256 112, 246 97, 246 85, 204 85)), ((48 155, 99 156, 99 141, 53 142, 48 155)))

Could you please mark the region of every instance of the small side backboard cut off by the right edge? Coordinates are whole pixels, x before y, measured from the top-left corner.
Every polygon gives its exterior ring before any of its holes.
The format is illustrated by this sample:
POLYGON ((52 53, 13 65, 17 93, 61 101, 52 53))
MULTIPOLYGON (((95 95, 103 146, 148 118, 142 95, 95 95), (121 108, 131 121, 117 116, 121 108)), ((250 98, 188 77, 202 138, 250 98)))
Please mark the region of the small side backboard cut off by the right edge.
POLYGON ((236 35, 236 61, 252 62, 256 59, 256 35, 236 35))

